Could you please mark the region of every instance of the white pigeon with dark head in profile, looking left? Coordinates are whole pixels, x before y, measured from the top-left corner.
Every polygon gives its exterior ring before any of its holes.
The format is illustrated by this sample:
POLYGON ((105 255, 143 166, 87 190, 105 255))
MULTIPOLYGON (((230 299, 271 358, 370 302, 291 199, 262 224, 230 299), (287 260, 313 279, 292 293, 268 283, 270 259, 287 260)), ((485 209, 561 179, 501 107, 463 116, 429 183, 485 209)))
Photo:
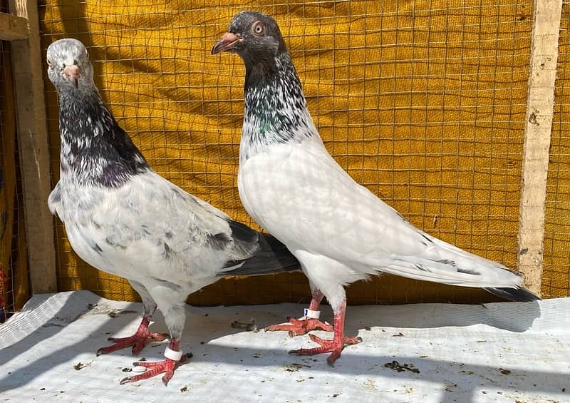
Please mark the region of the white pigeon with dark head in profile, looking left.
POLYGON ((511 300, 538 299, 504 265, 415 228, 331 158, 274 19, 254 11, 236 14, 212 49, 224 51, 237 53, 246 67, 239 195, 249 215, 299 259, 312 291, 305 317, 268 329, 330 331, 318 320, 323 295, 334 312, 333 340, 311 335, 321 346, 297 354, 331 352, 333 364, 345 345, 360 341, 344 335, 344 286, 381 272, 482 287, 511 300))

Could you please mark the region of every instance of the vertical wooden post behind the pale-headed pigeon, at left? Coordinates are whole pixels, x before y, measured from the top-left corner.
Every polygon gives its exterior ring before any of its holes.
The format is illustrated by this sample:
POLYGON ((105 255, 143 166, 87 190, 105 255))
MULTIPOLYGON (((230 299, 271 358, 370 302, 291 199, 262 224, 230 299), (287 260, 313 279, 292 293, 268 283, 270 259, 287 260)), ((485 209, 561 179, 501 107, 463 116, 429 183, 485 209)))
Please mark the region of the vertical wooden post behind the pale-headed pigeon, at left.
POLYGON ((12 41, 16 91, 17 136, 24 183, 24 215, 32 292, 56 292, 56 249, 51 191, 50 153, 39 36, 38 9, 33 0, 10 0, 10 10, 28 20, 28 39, 12 41))

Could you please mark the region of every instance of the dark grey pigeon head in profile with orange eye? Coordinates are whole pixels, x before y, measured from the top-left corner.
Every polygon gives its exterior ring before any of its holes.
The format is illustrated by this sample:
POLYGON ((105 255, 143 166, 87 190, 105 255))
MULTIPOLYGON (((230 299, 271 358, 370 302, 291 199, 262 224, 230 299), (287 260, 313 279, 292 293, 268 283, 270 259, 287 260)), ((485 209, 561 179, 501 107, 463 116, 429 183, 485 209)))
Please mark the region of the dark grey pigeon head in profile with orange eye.
POLYGON ((264 63, 286 51, 285 41, 275 20, 256 11, 236 14, 227 33, 212 48, 212 54, 237 53, 246 65, 264 63))

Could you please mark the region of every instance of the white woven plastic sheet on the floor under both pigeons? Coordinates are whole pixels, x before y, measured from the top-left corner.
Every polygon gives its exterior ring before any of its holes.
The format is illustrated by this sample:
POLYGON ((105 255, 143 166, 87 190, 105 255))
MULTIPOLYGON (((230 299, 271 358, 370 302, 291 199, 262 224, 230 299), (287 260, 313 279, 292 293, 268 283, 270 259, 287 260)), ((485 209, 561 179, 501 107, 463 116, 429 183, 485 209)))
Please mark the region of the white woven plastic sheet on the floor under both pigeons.
MULTIPOLYGON (((363 342, 334 367, 327 354, 288 354, 314 347, 306 335, 231 326, 273 325, 303 308, 188 306, 180 346, 193 357, 167 387, 160 376, 121 386, 133 361, 162 359, 167 346, 95 356, 111 335, 135 332, 142 305, 36 295, 0 325, 0 402, 570 402, 570 298, 348 307, 346 333, 363 342)), ((151 330, 166 332, 160 313, 154 320, 151 330)))

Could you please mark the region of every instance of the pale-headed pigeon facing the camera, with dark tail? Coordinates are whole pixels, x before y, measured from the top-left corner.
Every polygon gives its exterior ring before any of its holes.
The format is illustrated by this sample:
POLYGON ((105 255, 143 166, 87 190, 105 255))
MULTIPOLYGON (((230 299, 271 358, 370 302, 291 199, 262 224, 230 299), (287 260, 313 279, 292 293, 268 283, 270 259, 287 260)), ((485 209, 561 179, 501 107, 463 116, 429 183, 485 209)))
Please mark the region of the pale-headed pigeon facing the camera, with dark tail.
POLYGON ((69 243, 86 262, 125 277, 144 307, 131 337, 110 339, 98 355, 150 339, 157 307, 165 317, 170 345, 165 360, 136 362, 149 370, 121 380, 135 382, 177 364, 187 296, 224 275, 298 270, 299 262, 270 235, 258 233, 186 193, 155 173, 118 126, 93 83, 85 46, 61 39, 48 47, 48 76, 59 96, 60 179, 48 206, 63 221, 69 243))

